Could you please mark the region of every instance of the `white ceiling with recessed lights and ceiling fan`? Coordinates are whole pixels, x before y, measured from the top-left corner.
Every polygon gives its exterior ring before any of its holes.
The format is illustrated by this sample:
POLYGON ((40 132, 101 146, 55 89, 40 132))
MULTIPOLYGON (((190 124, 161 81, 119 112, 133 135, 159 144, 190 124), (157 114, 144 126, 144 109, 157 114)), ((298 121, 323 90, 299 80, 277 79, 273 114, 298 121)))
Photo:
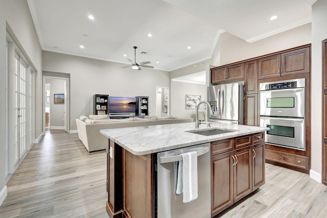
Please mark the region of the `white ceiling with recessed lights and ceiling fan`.
POLYGON ((28 0, 43 50, 128 64, 138 46, 136 62, 167 71, 211 58, 223 31, 252 42, 311 22, 314 2, 28 0))

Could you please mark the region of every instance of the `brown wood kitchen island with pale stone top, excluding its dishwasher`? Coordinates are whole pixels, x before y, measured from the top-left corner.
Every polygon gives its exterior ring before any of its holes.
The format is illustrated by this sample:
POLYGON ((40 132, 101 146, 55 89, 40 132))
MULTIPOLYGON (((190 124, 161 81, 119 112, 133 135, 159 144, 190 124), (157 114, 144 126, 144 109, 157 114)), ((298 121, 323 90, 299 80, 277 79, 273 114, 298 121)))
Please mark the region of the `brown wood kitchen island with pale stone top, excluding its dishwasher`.
MULTIPOLYGON (((101 130, 109 138, 108 215, 160 217, 157 212, 158 153, 201 144, 209 144, 207 159, 211 163, 211 175, 206 178, 207 187, 211 188, 208 197, 211 207, 208 207, 209 215, 204 217, 218 214, 264 184, 266 130, 223 123, 211 123, 209 128, 200 125, 197 130, 194 123, 101 130), (212 130, 218 134, 211 133, 212 130), (221 133, 225 132, 221 130, 227 132, 221 133)), ((199 192, 199 198, 200 195, 199 192)))

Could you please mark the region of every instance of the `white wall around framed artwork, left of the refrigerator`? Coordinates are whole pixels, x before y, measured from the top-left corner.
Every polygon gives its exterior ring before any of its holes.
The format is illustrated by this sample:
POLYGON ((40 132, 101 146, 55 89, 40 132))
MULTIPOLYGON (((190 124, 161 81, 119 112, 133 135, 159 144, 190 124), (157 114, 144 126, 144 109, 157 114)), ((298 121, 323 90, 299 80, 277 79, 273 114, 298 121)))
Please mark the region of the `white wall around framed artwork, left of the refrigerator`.
POLYGON ((194 83, 171 81, 171 115, 191 116, 195 119, 195 109, 185 109, 185 94, 199 94, 206 101, 206 86, 194 83))

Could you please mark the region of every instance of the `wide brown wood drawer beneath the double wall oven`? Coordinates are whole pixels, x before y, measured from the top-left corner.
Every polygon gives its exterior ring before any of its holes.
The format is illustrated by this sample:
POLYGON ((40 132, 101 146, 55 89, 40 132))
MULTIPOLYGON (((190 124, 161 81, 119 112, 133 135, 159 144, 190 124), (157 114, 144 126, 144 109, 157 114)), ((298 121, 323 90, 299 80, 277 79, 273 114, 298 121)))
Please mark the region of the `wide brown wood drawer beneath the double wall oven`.
POLYGON ((266 149, 266 160, 283 163, 301 169, 309 169, 309 158, 305 156, 266 149))

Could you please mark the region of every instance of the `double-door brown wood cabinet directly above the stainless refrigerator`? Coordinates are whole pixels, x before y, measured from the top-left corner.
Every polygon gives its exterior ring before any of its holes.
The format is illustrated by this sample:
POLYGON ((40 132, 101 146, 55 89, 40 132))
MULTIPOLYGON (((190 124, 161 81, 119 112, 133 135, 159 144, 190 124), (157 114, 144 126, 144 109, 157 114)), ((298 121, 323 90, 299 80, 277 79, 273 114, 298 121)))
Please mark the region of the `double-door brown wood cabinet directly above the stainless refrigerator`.
POLYGON ((211 70, 211 82, 213 84, 232 80, 244 79, 244 63, 233 64, 211 70))

